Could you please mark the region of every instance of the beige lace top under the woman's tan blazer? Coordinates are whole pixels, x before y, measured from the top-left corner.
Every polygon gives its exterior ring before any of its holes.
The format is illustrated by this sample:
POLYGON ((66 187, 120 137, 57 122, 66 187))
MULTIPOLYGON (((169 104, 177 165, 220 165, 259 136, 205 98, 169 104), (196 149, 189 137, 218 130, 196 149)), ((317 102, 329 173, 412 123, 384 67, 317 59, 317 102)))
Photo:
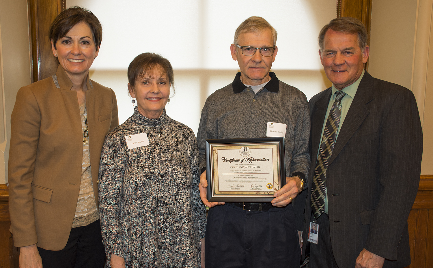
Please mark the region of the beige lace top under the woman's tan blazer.
MULTIPOLYGON (((86 103, 80 104, 81 128, 86 127, 87 109, 86 103)), ((80 194, 78 195, 77 208, 75 210, 72 228, 86 226, 99 219, 99 212, 96 206, 95 193, 93 189, 92 173, 90 169, 90 137, 87 137, 83 145, 83 162, 81 166, 80 194)))

